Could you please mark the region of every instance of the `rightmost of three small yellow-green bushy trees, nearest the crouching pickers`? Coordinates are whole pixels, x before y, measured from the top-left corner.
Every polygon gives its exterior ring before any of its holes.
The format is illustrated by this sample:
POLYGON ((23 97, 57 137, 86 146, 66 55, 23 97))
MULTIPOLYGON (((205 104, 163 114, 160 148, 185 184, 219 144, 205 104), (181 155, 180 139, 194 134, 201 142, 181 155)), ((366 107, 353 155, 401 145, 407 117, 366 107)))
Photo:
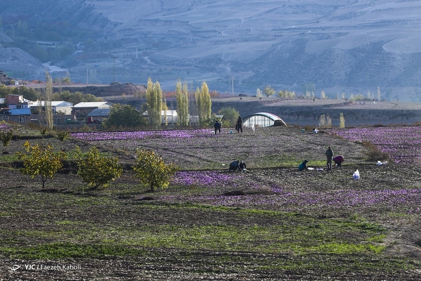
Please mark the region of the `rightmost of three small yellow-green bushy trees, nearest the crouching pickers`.
POLYGON ((157 188, 167 188, 178 167, 174 163, 165 164, 154 151, 138 148, 136 154, 136 163, 132 167, 140 182, 149 185, 151 192, 157 188))

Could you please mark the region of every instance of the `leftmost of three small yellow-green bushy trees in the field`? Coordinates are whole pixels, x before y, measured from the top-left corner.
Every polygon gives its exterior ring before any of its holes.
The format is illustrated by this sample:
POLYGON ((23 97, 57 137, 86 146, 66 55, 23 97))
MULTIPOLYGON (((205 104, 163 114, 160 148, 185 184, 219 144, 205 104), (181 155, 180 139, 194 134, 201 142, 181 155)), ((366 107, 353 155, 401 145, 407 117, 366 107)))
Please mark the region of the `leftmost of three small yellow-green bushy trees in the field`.
POLYGON ((17 153, 19 159, 24 161, 24 167, 20 171, 31 178, 40 175, 44 189, 47 178, 54 178, 55 173, 63 167, 61 159, 65 159, 66 155, 63 152, 54 152, 50 144, 31 145, 29 141, 26 141, 24 148, 26 153, 17 153))

